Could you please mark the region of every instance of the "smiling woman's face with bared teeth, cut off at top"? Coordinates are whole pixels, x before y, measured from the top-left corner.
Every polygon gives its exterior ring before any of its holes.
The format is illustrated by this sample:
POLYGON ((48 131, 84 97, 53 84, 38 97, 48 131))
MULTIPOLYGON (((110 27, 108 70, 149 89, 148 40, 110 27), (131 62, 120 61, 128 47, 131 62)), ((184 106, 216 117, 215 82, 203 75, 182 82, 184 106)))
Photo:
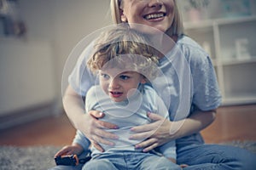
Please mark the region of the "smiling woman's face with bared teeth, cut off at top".
MULTIPOLYGON (((152 26, 163 32, 166 32, 172 26, 174 18, 174 0, 122 1, 122 21, 152 26)), ((143 31, 147 32, 147 29, 143 31)))

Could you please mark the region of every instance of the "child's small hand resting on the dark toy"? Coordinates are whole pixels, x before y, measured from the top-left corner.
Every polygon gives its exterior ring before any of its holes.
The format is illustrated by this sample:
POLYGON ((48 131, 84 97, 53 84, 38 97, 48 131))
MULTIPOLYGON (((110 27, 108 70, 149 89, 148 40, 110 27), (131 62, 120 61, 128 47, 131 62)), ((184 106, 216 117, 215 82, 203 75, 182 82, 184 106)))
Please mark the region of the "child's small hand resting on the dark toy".
POLYGON ((79 144, 67 145, 64 146, 61 150, 59 150, 55 157, 58 156, 67 156, 67 155, 79 155, 83 152, 83 147, 79 144))

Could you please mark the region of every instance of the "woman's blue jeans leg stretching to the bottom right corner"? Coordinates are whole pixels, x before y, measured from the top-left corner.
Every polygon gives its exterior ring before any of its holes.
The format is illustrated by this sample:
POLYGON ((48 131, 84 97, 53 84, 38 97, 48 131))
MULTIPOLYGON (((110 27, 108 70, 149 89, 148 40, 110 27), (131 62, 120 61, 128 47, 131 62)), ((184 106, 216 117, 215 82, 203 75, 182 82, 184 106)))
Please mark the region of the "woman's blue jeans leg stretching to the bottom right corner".
POLYGON ((177 164, 186 170, 253 170, 256 155, 238 147, 220 144, 189 144, 177 147, 177 164))

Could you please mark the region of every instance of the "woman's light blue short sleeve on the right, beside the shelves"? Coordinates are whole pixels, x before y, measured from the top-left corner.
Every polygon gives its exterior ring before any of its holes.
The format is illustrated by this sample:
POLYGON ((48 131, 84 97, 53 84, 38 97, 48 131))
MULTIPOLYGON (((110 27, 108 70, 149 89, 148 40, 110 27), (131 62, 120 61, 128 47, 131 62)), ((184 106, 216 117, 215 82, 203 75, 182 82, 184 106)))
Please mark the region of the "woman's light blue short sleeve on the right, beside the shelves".
POLYGON ((221 105, 221 94, 212 59, 201 46, 189 37, 180 42, 189 62, 192 81, 192 105, 201 111, 210 111, 221 105))

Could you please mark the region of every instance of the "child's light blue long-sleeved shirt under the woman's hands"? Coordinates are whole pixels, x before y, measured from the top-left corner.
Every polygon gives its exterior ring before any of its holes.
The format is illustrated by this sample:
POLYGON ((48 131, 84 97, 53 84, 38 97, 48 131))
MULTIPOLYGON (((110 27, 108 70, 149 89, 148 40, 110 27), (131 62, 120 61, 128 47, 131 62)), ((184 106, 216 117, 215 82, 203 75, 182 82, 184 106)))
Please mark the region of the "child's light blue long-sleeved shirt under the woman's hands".
MULTIPOLYGON (((137 93, 133 94, 129 99, 122 102, 114 102, 102 91, 100 86, 90 88, 85 100, 86 112, 91 110, 102 111, 105 114, 101 119, 102 121, 111 122, 119 127, 118 129, 105 129, 119 136, 119 139, 108 139, 115 145, 109 146, 101 144, 102 148, 105 150, 104 152, 100 152, 92 147, 92 156, 120 151, 142 152, 142 149, 135 149, 135 144, 142 142, 143 139, 129 139, 132 134, 131 127, 151 122, 147 116, 148 112, 160 113, 160 116, 169 118, 166 105, 153 88, 148 85, 141 85, 138 89, 137 93)), ((150 135, 148 135, 148 137, 150 135)), ((81 144, 83 147, 88 147, 89 145, 87 144, 88 140, 84 140, 84 135, 80 132, 77 133, 73 142, 81 144)), ((87 150, 87 148, 84 148, 84 150, 87 150)), ((157 150, 168 158, 176 159, 175 141, 166 143, 157 150)))

